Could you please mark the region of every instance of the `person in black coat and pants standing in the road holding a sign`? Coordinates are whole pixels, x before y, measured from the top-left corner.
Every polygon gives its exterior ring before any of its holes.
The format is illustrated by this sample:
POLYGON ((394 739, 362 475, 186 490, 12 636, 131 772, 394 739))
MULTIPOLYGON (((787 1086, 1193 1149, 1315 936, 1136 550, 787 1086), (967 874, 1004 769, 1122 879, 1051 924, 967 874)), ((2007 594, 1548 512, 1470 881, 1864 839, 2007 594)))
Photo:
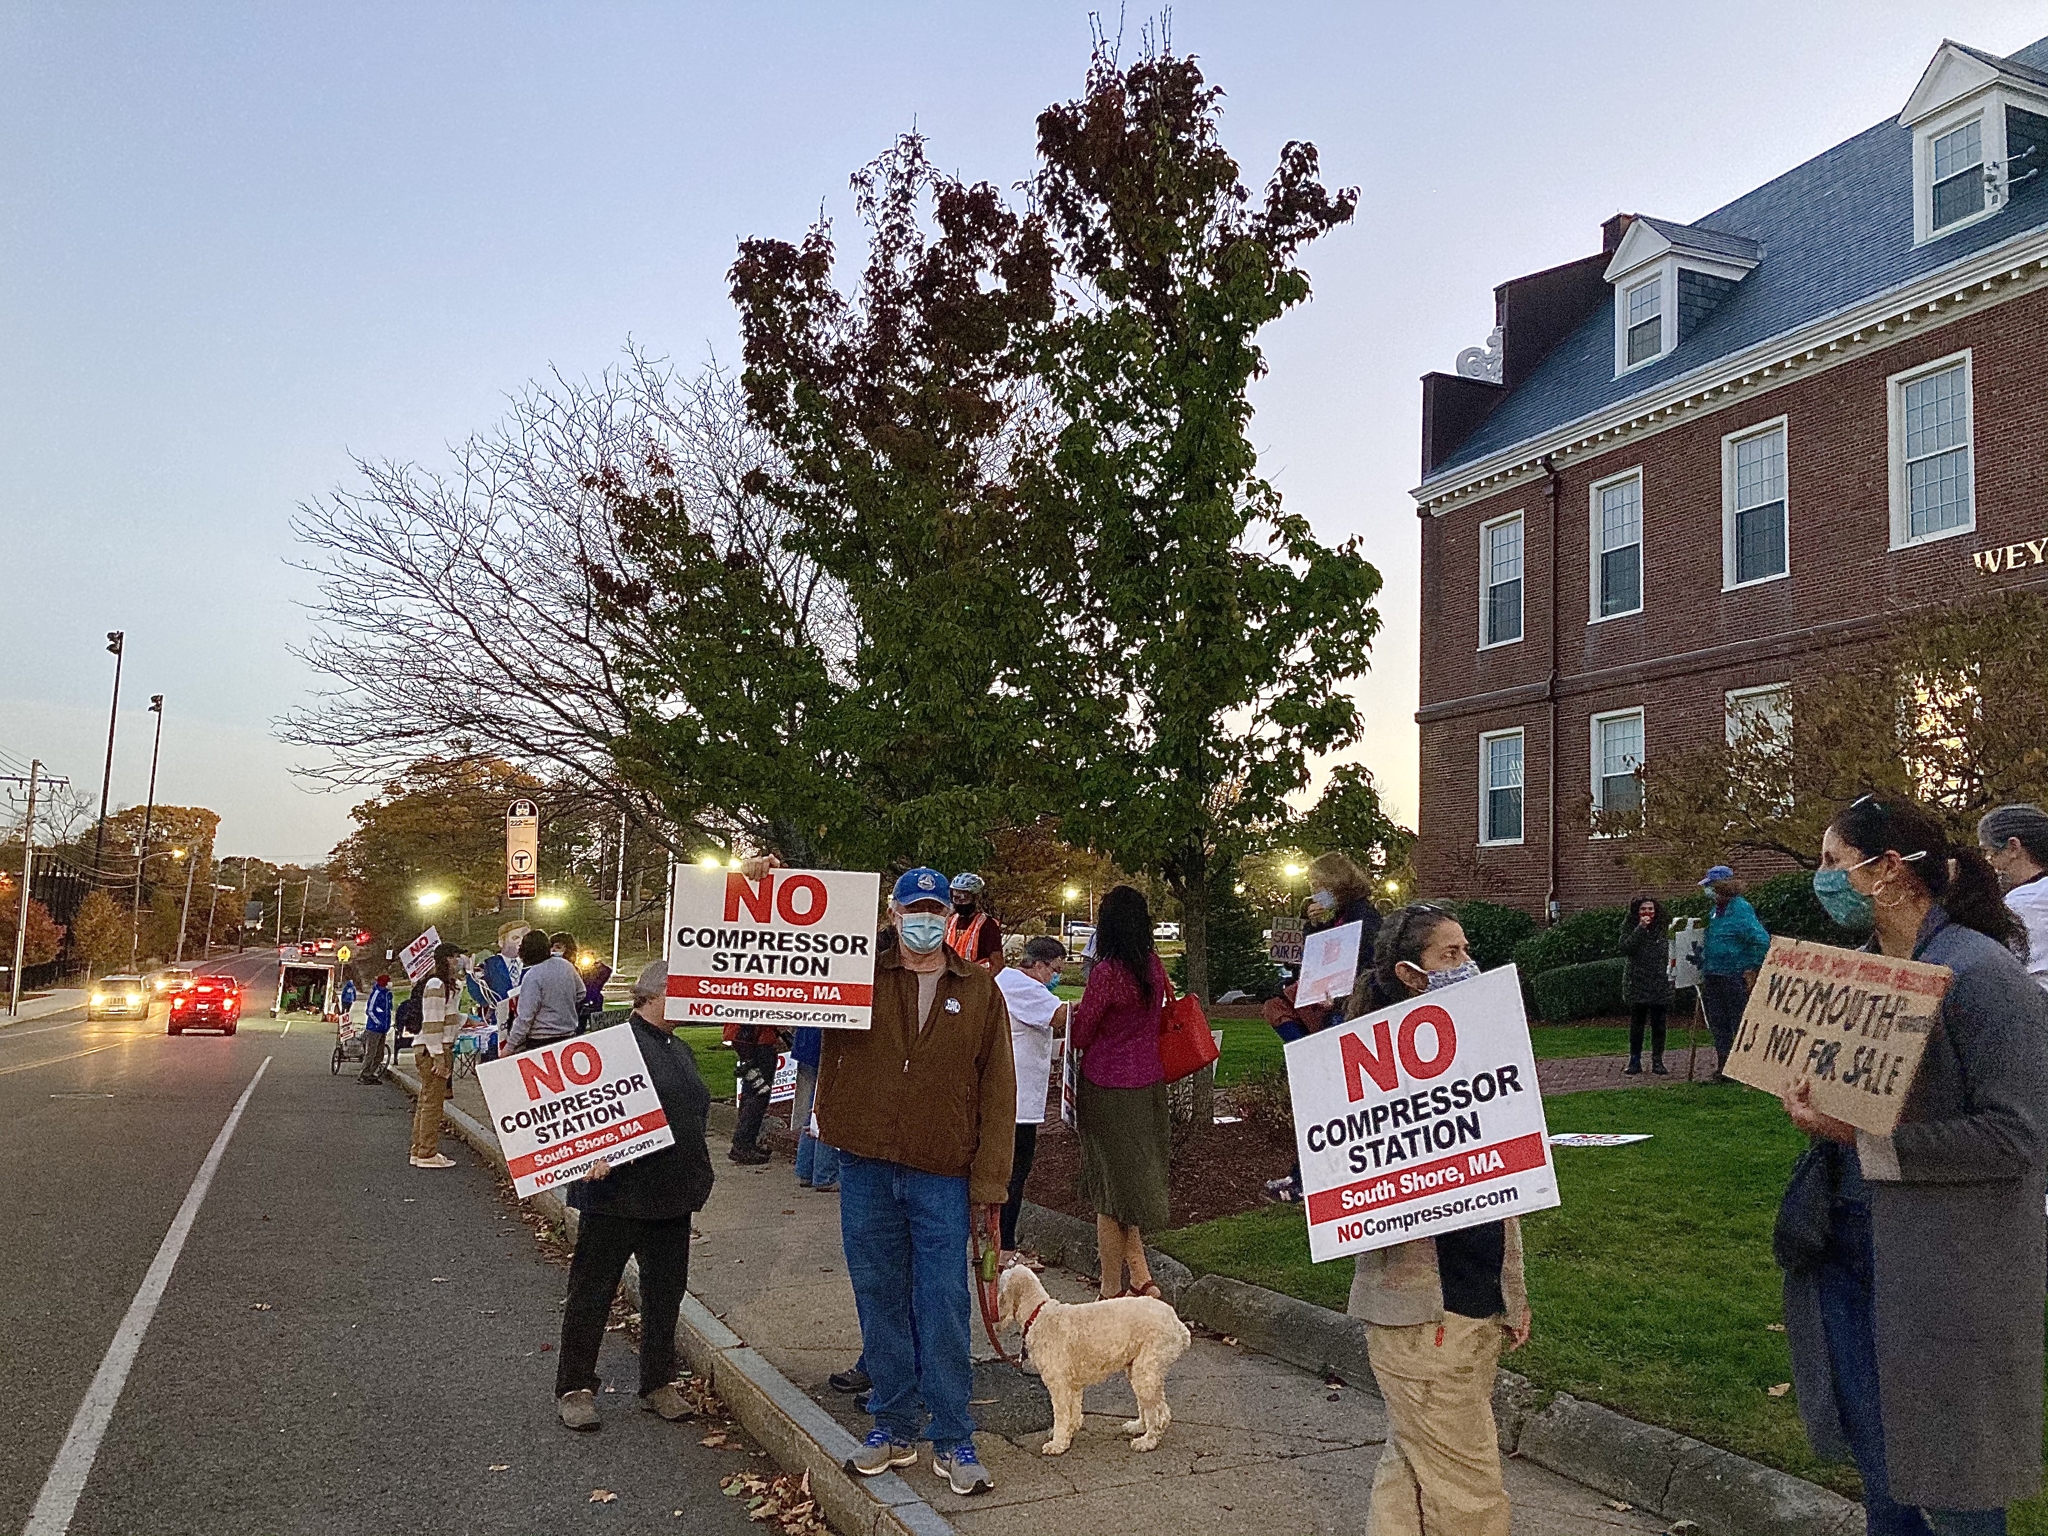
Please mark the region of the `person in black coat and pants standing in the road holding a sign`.
POLYGON ((555 1411, 571 1430, 598 1427, 598 1346, 629 1257, 639 1260, 641 1272, 641 1407, 664 1419, 690 1415, 674 1384, 676 1315, 690 1286, 690 1217, 711 1198, 705 1141, 711 1090, 690 1047, 676 1040, 676 1026, 662 1018, 666 999, 668 961, 655 961, 633 983, 633 1038, 676 1141, 618 1167, 596 1163, 588 1178, 569 1186, 575 1257, 561 1313, 555 1411))

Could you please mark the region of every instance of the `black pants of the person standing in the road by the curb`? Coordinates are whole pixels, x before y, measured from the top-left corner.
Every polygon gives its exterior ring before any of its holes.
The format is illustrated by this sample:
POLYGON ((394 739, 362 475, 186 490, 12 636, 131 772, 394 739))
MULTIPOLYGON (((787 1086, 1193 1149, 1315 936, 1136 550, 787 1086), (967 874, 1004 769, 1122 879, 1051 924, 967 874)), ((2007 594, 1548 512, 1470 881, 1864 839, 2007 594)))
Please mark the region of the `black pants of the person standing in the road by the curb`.
POLYGON ((598 1346, 629 1257, 641 1266, 641 1393, 676 1378, 676 1313, 690 1288, 690 1219, 635 1221, 582 1210, 569 1260, 569 1303, 561 1311, 555 1397, 598 1391, 598 1346))

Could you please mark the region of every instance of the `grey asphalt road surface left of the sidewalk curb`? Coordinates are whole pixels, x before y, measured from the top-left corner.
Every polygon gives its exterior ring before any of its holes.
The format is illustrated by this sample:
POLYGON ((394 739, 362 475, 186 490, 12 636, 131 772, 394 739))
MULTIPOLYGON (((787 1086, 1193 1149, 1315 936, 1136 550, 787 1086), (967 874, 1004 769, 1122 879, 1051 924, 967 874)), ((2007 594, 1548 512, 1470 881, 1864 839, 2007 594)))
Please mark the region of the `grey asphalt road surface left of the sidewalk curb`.
POLYGON ((27 1526, 258 1069, 70 1532, 758 1532, 719 1477, 772 1464, 643 1413, 618 1335, 604 1430, 555 1421, 565 1270, 494 1174, 453 1137, 457 1167, 410 1167, 410 1100, 330 1075, 317 1024, 266 1018, 268 954, 207 969, 258 983, 233 1038, 168 1038, 162 1010, 0 1030, 0 1532, 27 1526))

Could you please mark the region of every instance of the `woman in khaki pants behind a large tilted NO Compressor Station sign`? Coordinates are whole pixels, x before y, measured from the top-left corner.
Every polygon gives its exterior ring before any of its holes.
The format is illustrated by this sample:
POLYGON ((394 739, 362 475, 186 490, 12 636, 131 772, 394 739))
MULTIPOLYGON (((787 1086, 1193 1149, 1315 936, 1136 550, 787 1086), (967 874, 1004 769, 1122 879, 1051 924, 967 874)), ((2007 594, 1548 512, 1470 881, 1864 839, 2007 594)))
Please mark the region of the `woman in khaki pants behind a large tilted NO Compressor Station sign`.
MULTIPOLYGON (((1360 1018, 1475 975, 1450 911, 1403 907, 1380 928, 1374 969, 1346 1012, 1360 1018)), ((1503 1339, 1520 1350, 1530 1335, 1522 1223, 1507 1217, 1360 1253, 1350 1313, 1366 1321, 1366 1356, 1393 1421, 1368 1530, 1507 1536, 1493 1368, 1503 1339)))

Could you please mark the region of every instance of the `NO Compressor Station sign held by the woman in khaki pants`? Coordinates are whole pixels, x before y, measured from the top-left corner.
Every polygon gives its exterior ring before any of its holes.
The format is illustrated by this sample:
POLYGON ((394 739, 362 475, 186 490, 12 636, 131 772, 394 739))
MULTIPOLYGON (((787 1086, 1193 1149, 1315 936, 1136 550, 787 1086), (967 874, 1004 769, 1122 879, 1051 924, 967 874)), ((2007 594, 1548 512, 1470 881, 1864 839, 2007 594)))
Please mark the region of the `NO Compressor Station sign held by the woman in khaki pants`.
POLYGON ((1309 1255, 1559 1204, 1511 965, 1286 1047, 1309 1255))

